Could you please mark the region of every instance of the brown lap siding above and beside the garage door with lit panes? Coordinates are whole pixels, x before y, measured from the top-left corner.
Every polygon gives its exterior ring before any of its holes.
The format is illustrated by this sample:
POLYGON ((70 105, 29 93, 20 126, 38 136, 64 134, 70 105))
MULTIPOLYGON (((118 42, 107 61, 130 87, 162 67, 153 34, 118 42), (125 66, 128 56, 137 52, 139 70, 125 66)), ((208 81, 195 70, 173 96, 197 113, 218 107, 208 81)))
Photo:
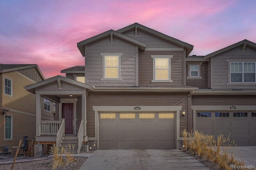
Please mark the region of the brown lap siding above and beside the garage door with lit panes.
MULTIPOLYGON (((94 136, 95 113, 92 106, 169 106, 182 105, 188 112, 188 93, 172 92, 89 92, 86 97, 87 134, 94 136)), ((180 114, 180 113, 179 113, 180 114)), ((188 128, 188 117, 180 117, 180 129, 188 128)))

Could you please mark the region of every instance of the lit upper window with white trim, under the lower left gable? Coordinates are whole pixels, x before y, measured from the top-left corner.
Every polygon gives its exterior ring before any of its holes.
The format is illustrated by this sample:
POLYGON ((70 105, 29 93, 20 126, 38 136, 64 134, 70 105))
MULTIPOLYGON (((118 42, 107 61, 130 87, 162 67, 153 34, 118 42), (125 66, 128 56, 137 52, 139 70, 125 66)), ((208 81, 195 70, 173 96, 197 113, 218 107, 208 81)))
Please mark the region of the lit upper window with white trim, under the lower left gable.
POLYGON ((121 55, 123 53, 100 53, 102 55, 102 79, 101 80, 122 80, 121 55))

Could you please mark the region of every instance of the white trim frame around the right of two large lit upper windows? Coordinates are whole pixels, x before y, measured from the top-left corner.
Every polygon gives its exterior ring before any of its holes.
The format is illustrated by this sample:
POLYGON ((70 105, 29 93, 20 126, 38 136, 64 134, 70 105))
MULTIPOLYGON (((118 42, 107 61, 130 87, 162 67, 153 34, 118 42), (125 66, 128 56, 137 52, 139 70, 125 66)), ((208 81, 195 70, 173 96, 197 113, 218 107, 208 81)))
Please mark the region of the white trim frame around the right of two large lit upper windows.
POLYGON ((151 58, 153 59, 153 79, 151 80, 152 83, 159 82, 169 82, 172 83, 171 79, 171 58, 173 55, 151 55, 151 58), (156 80, 156 58, 168 58, 168 80, 156 80))

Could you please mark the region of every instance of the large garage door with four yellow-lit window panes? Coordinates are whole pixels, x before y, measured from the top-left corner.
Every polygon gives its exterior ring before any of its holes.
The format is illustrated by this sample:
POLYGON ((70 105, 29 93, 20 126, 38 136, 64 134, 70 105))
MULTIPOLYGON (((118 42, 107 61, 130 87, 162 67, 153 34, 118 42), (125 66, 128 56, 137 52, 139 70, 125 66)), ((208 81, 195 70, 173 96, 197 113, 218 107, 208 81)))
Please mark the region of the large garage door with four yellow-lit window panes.
POLYGON ((99 113, 99 148, 175 148, 175 113, 99 113))

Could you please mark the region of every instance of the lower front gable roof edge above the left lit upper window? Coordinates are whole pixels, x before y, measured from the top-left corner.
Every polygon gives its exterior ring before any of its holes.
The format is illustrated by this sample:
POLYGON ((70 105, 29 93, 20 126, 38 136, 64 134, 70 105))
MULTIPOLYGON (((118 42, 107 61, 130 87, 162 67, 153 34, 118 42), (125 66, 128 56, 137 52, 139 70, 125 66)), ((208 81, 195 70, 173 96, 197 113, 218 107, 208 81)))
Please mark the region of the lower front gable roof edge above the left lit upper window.
POLYGON ((145 47, 146 47, 146 44, 145 44, 145 43, 140 42, 140 41, 138 41, 138 40, 135 40, 135 39, 133 39, 133 38, 130 38, 130 37, 128 37, 128 36, 125 36, 124 34, 121 34, 121 33, 116 32, 116 31, 114 31, 114 30, 108 30, 108 31, 106 31, 106 32, 103 32, 102 34, 98 34, 97 36, 94 36, 94 37, 88 38, 88 39, 86 39, 86 40, 83 40, 83 41, 81 41, 81 42, 78 42, 78 43, 77 43, 77 47, 78 47, 79 51, 81 52, 81 54, 82 54, 83 56, 85 56, 85 45, 86 45, 86 44, 95 42, 95 41, 97 41, 97 40, 100 40, 100 39, 105 38, 105 37, 110 36, 110 35, 114 35, 114 36, 116 36, 116 37, 118 37, 118 38, 121 38, 121 39, 123 39, 123 40, 126 40, 127 42, 134 43, 134 44, 138 45, 139 48, 142 49, 142 50, 144 50, 145 47))

